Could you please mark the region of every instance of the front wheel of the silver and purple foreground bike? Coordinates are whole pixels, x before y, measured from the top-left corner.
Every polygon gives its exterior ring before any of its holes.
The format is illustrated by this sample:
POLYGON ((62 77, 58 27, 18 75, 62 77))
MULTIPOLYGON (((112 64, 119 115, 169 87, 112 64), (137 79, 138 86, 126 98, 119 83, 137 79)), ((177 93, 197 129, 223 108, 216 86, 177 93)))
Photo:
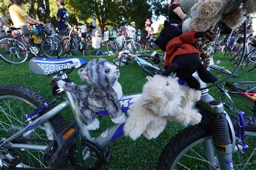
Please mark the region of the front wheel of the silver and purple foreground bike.
MULTIPOLYGON (((238 131, 237 117, 231 117, 231 120, 235 131, 238 131)), ((244 153, 238 151, 232 154, 234 169, 255 168, 256 118, 245 116, 244 121, 245 142, 249 148, 244 153)), ((215 162, 209 161, 205 154, 204 141, 211 141, 213 146, 209 124, 204 122, 189 126, 172 138, 161 152, 157 169, 219 169, 216 153, 213 153, 215 162)))

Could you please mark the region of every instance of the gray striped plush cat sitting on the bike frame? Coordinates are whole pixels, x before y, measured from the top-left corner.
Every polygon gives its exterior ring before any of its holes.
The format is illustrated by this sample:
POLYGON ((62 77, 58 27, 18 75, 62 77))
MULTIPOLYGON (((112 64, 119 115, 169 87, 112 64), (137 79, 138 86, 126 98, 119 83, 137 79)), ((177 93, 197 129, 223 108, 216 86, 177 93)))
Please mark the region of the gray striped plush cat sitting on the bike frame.
POLYGON ((82 120, 88 130, 99 128, 96 112, 107 109, 114 123, 124 123, 126 117, 121 109, 119 99, 123 95, 122 87, 117 81, 119 69, 105 59, 93 59, 85 68, 78 70, 80 78, 91 86, 57 82, 59 88, 75 94, 82 120))

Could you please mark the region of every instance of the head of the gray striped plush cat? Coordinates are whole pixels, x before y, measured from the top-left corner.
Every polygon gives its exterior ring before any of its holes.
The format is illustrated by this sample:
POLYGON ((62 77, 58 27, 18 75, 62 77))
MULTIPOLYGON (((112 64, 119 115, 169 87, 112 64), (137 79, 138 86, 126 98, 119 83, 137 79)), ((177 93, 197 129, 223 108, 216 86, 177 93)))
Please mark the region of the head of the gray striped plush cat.
POLYGON ((107 90, 117 81, 120 72, 116 66, 105 59, 93 59, 85 68, 78 70, 78 75, 91 86, 107 90))

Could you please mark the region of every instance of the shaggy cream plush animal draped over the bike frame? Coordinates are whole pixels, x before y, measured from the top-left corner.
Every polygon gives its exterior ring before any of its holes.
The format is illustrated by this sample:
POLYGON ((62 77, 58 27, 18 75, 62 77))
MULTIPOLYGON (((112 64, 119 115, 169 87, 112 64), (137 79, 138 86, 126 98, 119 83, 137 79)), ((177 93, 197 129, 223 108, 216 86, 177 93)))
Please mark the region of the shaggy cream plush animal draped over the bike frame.
POLYGON ((142 96, 128 110, 124 125, 126 136, 136 140, 142 134, 148 139, 157 138, 167 121, 187 126, 201 121, 201 115, 193 109, 200 100, 201 91, 180 86, 177 79, 154 75, 147 77, 142 96))

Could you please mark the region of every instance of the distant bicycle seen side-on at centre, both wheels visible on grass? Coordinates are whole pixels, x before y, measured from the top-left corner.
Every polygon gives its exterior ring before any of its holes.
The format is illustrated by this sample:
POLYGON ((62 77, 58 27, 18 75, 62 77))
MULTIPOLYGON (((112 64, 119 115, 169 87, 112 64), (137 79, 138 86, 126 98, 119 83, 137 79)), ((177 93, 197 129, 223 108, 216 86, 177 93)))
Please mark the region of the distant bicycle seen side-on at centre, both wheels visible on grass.
POLYGON ((129 50, 131 53, 138 53, 142 49, 138 42, 134 39, 125 40, 124 36, 117 37, 116 41, 110 40, 106 45, 107 53, 116 55, 123 49, 129 50))

